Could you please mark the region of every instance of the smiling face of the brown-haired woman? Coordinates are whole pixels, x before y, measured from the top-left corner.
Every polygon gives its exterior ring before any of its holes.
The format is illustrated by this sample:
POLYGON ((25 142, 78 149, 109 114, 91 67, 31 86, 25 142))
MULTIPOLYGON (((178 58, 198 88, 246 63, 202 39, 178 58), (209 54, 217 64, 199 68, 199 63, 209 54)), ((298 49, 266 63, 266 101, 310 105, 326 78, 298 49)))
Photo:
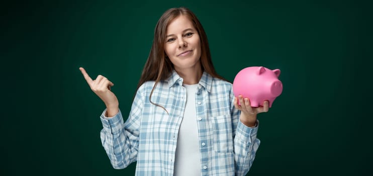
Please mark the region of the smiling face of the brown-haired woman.
POLYGON ((168 24, 164 50, 176 71, 201 68, 200 36, 188 17, 180 15, 168 24))

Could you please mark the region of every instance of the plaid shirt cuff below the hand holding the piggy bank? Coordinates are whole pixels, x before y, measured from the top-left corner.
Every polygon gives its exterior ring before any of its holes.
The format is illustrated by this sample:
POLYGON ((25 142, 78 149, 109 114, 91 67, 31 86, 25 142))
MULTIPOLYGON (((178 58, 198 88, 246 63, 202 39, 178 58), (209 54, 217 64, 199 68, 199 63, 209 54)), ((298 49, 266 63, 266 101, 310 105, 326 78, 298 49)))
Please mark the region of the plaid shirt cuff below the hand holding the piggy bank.
POLYGON ((236 138, 240 139, 243 142, 246 142, 247 144, 252 143, 256 139, 258 126, 258 120, 256 120, 256 124, 254 127, 248 127, 239 120, 236 130, 236 138))

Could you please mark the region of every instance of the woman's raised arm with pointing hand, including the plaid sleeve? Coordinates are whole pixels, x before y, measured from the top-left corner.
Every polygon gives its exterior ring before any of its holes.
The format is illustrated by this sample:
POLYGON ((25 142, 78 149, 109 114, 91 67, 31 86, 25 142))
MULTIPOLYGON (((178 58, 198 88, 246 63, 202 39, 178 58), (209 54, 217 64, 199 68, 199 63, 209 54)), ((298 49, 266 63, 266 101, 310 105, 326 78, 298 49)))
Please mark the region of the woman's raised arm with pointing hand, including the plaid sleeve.
POLYGON ((124 123, 119 110, 117 97, 111 91, 114 84, 106 77, 99 75, 92 80, 83 68, 79 68, 90 89, 105 103, 107 109, 101 115, 103 130, 101 141, 114 168, 125 168, 136 161, 139 126, 143 107, 143 97, 140 88, 136 93, 130 115, 124 123))

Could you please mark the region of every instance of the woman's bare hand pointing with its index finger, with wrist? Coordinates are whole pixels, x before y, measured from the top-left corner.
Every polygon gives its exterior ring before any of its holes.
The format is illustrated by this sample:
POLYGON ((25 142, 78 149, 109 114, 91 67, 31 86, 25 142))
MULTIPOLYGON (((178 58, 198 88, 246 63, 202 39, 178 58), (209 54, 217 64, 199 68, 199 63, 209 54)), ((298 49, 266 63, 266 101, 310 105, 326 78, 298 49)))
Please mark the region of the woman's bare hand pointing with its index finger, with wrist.
POLYGON ((114 86, 114 83, 102 75, 98 75, 95 80, 92 80, 84 68, 80 67, 79 70, 83 74, 90 89, 99 96, 102 101, 104 101, 107 108, 107 117, 113 117, 116 115, 119 112, 119 102, 110 88, 111 86, 114 86))

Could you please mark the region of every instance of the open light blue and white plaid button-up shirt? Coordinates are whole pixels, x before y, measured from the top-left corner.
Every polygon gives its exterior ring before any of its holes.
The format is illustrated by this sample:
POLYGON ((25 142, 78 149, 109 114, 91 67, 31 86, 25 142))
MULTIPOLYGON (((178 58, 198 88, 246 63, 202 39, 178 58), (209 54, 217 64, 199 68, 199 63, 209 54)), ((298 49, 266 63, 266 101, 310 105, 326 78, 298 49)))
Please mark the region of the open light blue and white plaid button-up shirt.
MULTIPOLYGON (((121 112, 112 118, 101 115, 102 144, 114 168, 137 161, 136 175, 173 175, 178 129, 185 110, 183 79, 172 75, 156 86, 154 81, 138 89, 124 123, 121 112)), ((257 125, 249 128, 235 109, 232 84, 204 72, 196 94, 202 175, 245 175, 260 144, 257 125)), ((257 122, 258 124, 258 122, 257 122)))

